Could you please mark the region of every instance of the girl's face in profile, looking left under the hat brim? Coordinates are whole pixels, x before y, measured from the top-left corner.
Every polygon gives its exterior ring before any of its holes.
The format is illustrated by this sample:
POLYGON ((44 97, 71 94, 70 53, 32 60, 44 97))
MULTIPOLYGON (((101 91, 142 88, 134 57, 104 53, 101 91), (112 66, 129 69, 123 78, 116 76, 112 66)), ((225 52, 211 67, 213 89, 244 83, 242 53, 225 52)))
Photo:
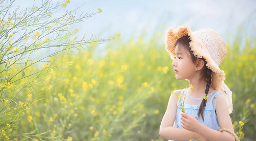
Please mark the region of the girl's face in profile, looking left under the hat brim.
POLYGON ((192 78, 196 73, 196 65, 192 61, 190 53, 178 44, 175 48, 174 58, 175 60, 173 61, 173 66, 176 79, 184 80, 192 78))

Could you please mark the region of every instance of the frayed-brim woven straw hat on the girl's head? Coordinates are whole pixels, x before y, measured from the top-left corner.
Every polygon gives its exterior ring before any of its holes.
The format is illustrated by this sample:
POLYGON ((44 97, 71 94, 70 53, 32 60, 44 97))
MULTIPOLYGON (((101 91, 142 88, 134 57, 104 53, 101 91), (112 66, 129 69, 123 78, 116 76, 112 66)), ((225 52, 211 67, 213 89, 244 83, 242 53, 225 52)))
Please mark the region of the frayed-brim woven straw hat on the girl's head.
POLYGON ((204 29, 192 32, 187 26, 179 26, 176 30, 169 28, 165 37, 165 49, 174 60, 175 42, 183 36, 190 38, 190 48, 197 58, 204 57, 206 66, 212 70, 211 87, 222 91, 227 104, 229 114, 232 113, 232 91, 224 83, 225 73, 219 65, 227 55, 226 45, 221 36, 212 29, 204 29), (225 91, 225 92, 224 92, 225 91))

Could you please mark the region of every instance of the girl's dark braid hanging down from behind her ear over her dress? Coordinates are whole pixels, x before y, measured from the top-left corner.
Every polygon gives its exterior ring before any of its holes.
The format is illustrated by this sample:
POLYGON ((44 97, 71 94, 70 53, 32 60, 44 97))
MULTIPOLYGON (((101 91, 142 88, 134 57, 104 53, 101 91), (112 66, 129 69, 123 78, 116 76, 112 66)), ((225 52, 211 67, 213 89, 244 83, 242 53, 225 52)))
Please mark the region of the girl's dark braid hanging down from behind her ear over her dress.
MULTIPOLYGON (((210 84, 211 84, 211 69, 209 69, 208 67, 206 67, 206 63, 205 62, 205 76, 206 76, 206 89, 205 89, 205 93, 206 93, 206 96, 208 95, 208 92, 209 92, 209 89, 210 89, 210 84)), ((206 106, 206 103, 207 103, 207 100, 202 100, 201 104, 200 104, 200 108, 199 108, 199 111, 198 111, 198 117, 202 116, 202 119, 204 121, 204 109, 205 109, 205 106, 206 106)))

